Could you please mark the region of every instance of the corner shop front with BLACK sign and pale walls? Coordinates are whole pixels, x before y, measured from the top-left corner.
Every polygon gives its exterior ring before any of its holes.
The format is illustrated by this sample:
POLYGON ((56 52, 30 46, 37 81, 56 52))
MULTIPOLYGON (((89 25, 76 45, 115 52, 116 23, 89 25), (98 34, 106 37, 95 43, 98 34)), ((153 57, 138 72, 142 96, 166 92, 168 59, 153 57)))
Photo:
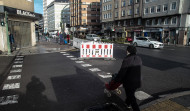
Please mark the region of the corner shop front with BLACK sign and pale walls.
POLYGON ((7 23, 0 28, 0 38, 4 46, 0 50, 7 51, 9 48, 9 33, 13 35, 15 46, 17 48, 29 47, 36 45, 35 21, 42 18, 41 14, 0 6, 1 18, 7 23), (7 42, 8 41, 8 42, 7 42))

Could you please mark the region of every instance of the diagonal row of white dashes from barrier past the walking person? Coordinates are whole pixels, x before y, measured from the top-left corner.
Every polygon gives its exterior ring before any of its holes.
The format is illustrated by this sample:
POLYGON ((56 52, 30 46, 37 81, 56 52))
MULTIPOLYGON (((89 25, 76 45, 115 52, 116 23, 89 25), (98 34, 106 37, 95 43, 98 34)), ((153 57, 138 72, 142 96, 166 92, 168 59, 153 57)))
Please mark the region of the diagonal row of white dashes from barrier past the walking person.
MULTIPOLYGON (((60 52, 63 56, 66 56, 67 58, 70 58, 70 60, 73 60, 75 61, 75 63, 77 64, 80 64, 82 67, 84 68, 88 68, 88 70, 90 70, 91 72, 93 73, 97 73, 97 75, 102 78, 102 79, 108 79, 108 78, 111 78, 112 77, 112 73, 110 72, 103 72, 101 69, 97 68, 97 67, 93 67, 93 65, 91 64, 88 64, 88 63, 85 63, 84 61, 82 60, 78 60, 76 57, 74 57, 73 55, 70 55, 69 53, 67 52, 60 52)), ((148 98, 152 98, 151 95, 147 94, 146 92, 144 91, 136 91, 135 92, 135 97, 138 99, 138 100, 146 100, 148 98)))

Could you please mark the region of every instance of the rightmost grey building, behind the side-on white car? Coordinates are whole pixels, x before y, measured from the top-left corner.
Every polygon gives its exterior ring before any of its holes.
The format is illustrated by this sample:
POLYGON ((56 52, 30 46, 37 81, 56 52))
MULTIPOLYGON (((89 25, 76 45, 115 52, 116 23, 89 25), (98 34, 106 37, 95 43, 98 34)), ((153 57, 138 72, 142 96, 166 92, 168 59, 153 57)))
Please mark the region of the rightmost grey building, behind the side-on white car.
POLYGON ((186 45, 190 26, 190 0, 143 0, 144 36, 186 45))

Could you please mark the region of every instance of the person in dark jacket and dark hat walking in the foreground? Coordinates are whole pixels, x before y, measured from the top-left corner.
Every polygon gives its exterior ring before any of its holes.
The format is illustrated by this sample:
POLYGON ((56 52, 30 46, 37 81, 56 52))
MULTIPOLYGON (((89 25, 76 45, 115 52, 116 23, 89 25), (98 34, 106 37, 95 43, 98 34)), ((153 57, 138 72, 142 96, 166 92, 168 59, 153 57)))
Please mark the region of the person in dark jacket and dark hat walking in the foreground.
POLYGON ((136 55, 134 46, 128 46, 127 56, 124 58, 121 68, 115 77, 115 82, 122 83, 126 93, 126 105, 132 106, 133 111, 140 111, 136 102, 135 91, 141 87, 142 60, 136 55))

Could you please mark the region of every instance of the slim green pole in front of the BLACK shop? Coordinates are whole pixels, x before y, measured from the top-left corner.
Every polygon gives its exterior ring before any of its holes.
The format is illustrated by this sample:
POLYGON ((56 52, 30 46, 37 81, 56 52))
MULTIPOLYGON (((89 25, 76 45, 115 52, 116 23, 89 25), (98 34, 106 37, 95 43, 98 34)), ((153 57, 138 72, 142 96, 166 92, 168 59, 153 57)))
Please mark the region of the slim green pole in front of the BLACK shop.
POLYGON ((10 50, 10 42, 9 42, 9 34, 8 34, 8 20, 7 20, 7 12, 5 11, 5 27, 6 27, 6 35, 7 35, 7 49, 8 49, 8 55, 11 54, 10 50))

